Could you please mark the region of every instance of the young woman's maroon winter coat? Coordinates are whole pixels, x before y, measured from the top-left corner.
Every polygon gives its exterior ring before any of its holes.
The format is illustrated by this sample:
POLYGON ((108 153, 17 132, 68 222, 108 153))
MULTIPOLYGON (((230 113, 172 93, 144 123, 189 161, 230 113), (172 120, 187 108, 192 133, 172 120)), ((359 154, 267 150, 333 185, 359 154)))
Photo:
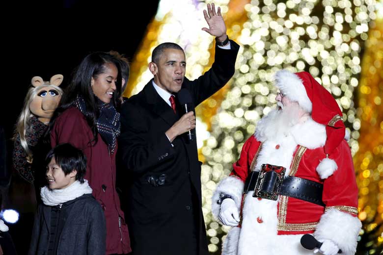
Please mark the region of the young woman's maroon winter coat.
POLYGON ((128 227, 115 189, 116 160, 110 155, 107 144, 98 134, 98 142, 90 143, 93 133, 80 110, 71 107, 55 121, 51 131, 52 148, 57 144, 71 143, 82 149, 87 159, 85 179, 93 189, 92 195, 104 209, 107 223, 107 254, 131 252, 128 227), (119 223, 120 219, 120 223, 119 223), (121 225, 121 227, 119 227, 121 225))

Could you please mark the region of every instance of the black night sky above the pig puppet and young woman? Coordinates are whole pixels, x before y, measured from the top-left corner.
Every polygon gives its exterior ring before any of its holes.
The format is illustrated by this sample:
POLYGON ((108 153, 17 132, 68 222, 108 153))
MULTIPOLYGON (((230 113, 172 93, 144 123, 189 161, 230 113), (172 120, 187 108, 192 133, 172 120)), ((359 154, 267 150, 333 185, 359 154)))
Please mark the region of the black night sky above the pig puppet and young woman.
POLYGON ((7 61, 2 68, 0 124, 7 137, 33 76, 49 80, 62 74, 63 87, 73 69, 92 51, 114 50, 132 59, 157 11, 158 0, 66 0, 63 5, 78 8, 30 12, 17 23, 2 19, 2 50, 7 61))

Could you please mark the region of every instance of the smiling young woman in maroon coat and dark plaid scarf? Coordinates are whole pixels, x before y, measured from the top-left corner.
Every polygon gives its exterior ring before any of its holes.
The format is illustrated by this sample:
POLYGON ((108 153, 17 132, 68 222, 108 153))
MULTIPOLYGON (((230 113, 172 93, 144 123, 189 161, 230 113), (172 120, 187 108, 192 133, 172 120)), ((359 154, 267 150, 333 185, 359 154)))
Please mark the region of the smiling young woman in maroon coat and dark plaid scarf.
POLYGON ((109 53, 91 53, 82 60, 50 123, 52 147, 71 143, 86 155, 85 179, 106 217, 108 255, 131 252, 115 189, 120 95, 119 60, 109 53))

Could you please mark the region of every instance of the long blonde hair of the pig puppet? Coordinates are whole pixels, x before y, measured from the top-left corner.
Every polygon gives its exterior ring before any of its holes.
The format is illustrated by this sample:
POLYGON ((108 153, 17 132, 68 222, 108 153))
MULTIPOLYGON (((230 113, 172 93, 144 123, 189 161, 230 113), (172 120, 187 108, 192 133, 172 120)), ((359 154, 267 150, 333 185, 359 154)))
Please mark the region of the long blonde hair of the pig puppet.
POLYGON ((29 130, 29 126, 30 126, 30 118, 32 118, 34 114, 30 111, 29 105, 37 97, 37 93, 42 88, 48 88, 48 87, 55 89, 60 95, 62 95, 62 89, 52 84, 41 85, 38 87, 30 87, 27 92, 27 96, 24 100, 23 109, 21 110, 21 113, 15 125, 15 132, 14 132, 13 139, 16 139, 17 135, 20 136, 21 146, 23 147, 24 151, 27 153, 27 156, 30 158, 32 158, 33 155, 32 155, 32 151, 28 147, 26 135, 27 135, 27 130, 29 130))

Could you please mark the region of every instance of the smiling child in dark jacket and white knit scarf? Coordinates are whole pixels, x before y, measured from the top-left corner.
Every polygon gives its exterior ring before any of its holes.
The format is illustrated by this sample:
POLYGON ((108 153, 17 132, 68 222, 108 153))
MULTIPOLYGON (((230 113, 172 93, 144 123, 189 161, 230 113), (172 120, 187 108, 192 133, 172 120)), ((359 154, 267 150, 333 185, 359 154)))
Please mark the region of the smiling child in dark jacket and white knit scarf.
POLYGON ((47 157, 48 185, 35 217, 29 255, 104 255, 106 225, 101 205, 84 179, 86 158, 71 144, 57 145, 47 157))

